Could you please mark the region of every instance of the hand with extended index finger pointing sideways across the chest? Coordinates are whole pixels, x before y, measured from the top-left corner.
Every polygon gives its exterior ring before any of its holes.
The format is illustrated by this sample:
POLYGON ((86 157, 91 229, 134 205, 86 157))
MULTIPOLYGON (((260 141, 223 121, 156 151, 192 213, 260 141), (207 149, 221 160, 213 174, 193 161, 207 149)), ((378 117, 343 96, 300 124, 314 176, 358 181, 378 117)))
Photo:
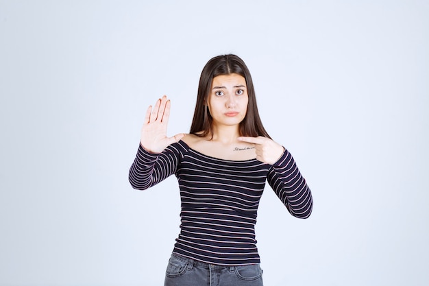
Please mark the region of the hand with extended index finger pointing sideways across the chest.
POLYGON ((284 147, 282 145, 264 136, 241 136, 238 137, 238 141, 253 143, 256 149, 256 159, 269 165, 273 165, 277 162, 284 152, 284 147))

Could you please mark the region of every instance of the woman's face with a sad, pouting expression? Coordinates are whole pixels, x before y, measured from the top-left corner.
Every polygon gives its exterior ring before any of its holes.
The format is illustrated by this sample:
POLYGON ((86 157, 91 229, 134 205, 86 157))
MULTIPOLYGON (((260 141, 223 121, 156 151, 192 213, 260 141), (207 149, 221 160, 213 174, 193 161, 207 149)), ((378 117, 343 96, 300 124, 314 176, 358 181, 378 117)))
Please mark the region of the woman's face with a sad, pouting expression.
POLYGON ((213 78, 207 99, 213 125, 232 126, 243 121, 247 112, 246 80, 237 73, 213 78))

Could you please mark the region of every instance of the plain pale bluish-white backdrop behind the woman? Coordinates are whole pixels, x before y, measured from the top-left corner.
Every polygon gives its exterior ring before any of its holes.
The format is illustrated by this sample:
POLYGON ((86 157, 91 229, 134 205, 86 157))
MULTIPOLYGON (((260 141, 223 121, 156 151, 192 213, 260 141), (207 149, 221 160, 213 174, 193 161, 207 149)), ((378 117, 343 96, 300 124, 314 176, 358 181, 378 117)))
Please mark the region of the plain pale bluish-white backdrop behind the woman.
POLYGON ((267 185, 265 285, 428 285, 428 51, 428 1, 0 0, 0 285, 162 285, 177 182, 128 169, 147 106, 188 132, 223 53, 315 201, 296 219, 267 185))

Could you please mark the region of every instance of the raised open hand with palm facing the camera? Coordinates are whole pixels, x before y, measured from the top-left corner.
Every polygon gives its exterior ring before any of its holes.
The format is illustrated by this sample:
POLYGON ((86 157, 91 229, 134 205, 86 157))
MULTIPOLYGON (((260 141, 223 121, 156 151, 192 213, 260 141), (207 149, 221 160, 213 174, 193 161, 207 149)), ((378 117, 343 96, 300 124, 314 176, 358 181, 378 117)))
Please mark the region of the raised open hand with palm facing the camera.
POLYGON ((180 141, 184 134, 167 137, 167 124, 170 117, 170 100, 167 96, 158 99, 155 106, 147 108, 145 122, 141 130, 141 145, 151 153, 160 153, 168 145, 180 141))

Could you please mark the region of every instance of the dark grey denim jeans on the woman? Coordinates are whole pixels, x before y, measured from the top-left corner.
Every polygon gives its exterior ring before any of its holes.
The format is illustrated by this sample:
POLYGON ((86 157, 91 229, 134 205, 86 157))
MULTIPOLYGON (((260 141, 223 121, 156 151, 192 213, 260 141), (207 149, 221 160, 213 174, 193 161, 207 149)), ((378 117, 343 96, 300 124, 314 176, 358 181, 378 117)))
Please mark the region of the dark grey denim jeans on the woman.
POLYGON ((164 286, 262 286, 259 264, 214 265, 171 254, 164 286))

